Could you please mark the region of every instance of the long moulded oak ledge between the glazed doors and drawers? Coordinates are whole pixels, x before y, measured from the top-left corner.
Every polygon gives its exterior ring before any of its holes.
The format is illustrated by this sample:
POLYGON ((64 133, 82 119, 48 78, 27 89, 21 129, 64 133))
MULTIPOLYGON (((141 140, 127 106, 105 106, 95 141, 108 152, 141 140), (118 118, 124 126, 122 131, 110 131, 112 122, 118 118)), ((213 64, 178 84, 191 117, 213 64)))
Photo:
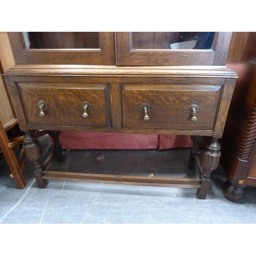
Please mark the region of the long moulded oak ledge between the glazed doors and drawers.
POLYGON ((102 76, 198 76, 233 77, 237 74, 225 66, 100 66, 100 65, 15 65, 7 75, 102 75, 102 76))

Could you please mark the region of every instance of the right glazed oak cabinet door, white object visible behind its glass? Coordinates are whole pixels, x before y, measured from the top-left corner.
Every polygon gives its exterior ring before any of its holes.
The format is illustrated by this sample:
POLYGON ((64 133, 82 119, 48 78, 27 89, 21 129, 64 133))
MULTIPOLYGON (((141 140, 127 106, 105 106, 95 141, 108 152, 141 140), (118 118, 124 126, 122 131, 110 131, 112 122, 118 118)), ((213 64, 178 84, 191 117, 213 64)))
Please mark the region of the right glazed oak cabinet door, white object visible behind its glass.
POLYGON ((117 32, 117 65, 225 66, 231 32, 117 32))

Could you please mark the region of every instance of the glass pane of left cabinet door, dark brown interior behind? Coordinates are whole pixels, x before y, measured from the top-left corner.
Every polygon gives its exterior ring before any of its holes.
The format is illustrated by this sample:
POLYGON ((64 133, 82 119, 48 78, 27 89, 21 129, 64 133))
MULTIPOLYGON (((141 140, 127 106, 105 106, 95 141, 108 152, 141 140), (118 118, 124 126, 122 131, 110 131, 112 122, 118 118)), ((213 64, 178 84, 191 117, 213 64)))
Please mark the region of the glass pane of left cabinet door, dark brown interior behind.
POLYGON ((99 32, 23 32, 27 49, 99 49, 99 32))

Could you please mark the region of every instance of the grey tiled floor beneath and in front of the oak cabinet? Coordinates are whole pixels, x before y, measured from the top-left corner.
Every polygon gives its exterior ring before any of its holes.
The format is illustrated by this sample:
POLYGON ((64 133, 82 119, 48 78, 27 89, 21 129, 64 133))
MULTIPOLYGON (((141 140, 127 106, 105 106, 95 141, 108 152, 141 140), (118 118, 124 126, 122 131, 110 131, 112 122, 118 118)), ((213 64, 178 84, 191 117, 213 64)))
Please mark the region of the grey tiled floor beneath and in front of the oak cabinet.
MULTIPOLYGON (((191 177, 188 149, 146 151, 65 151, 62 163, 50 169, 89 173, 150 174, 191 177)), ((0 160, 0 223, 256 223, 256 188, 247 187, 237 202, 223 195, 226 176, 212 172, 206 200, 198 200, 194 188, 49 181, 37 188, 28 164, 28 186, 17 189, 5 159, 0 160)))

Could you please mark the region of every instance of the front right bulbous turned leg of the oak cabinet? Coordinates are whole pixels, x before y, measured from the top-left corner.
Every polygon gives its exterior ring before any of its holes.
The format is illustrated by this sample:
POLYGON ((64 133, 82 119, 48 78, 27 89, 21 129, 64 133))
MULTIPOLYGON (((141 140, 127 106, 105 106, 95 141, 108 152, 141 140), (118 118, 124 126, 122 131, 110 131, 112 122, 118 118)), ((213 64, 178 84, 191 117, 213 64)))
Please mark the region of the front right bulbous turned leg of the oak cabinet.
POLYGON ((210 187, 210 173, 212 170, 217 169, 219 166, 219 161, 221 157, 220 144, 218 143, 218 138, 212 139, 203 150, 200 164, 203 168, 202 173, 202 184, 201 188, 197 190, 198 199, 205 199, 207 192, 210 187))

